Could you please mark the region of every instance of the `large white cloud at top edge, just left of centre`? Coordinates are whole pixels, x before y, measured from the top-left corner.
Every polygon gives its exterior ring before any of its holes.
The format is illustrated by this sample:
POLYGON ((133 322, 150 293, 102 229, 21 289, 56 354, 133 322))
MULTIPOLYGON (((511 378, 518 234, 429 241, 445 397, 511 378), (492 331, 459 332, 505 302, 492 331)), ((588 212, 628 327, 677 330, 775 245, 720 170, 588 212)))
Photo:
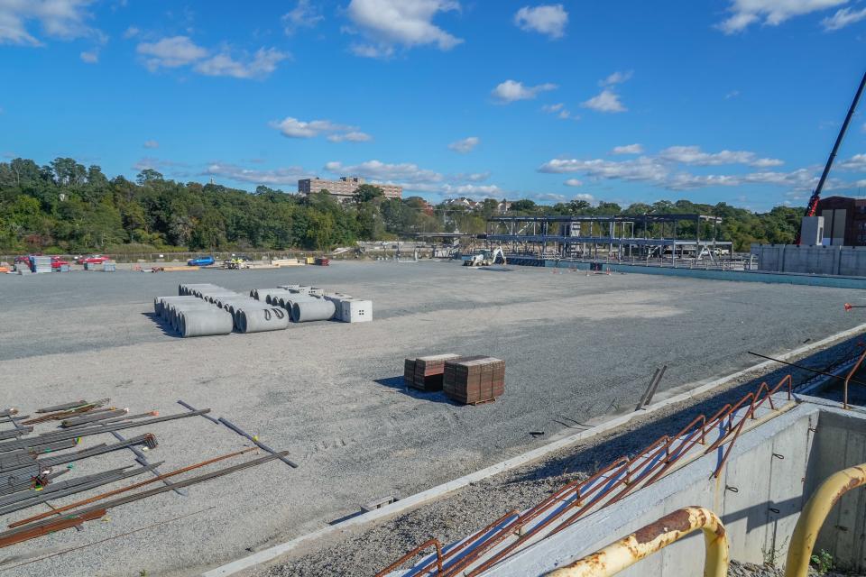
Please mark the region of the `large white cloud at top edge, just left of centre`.
POLYGON ((346 14, 370 42, 352 50, 372 58, 391 56, 395 46, 432 44, 439 50, 451 50, 463 40, 439 28, 433 18, 458 10, 460 5, 453 0, 352 0, 346 14))

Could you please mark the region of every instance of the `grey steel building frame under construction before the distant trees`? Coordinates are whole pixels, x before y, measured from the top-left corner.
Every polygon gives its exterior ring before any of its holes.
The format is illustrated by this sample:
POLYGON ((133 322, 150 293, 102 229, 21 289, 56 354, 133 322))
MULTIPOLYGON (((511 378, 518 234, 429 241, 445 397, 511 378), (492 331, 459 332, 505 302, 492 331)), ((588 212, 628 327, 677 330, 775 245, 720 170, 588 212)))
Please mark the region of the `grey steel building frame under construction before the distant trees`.
POLYGON ((717 239, 722 218, 710 215, 495 216, 487 243, 515 256, 569 261, 653 262, 732 259, 717 239))

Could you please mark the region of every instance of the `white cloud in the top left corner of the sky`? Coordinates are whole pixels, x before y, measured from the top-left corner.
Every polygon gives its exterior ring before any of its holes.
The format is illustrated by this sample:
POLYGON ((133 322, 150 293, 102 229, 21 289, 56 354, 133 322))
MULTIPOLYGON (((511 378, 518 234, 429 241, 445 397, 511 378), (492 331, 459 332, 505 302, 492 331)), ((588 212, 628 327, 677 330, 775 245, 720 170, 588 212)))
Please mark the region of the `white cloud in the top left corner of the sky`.
POLYGON ((87 8, 91 4, 93 0, 0 0, 0 44, 41 46, 42 42, 28 32, 28 21, 38 22, 49 38, 105 41, 105 34, 88 25, 92 15, 87 8))

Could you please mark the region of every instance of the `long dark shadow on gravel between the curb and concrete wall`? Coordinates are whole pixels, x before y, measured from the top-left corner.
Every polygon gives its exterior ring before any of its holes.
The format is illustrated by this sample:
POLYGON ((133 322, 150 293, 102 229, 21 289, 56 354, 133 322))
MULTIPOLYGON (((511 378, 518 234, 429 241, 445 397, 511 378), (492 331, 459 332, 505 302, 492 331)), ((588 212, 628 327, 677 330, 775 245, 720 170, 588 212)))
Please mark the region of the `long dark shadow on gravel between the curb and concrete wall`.
MULTIPOLYGON (((861 342, 861 337, 853 337, 842 343, 837 343, 824 351, 792 362, 818 371, 827 371, 835 364, 861 353, 861 342)), ((756 353, 761 352, 756 351, 756 353)), ((756 360, 760 361, 760 359, 756 360)), ((732 389, 724 390, 695 405, 676 410, 667 416, 663 413, 657 414, 655 417, 650 416, 652 420, 649 422, 631 426, 627 425, 627 427, 631 428, 619 435, 606 439, 590 439, 585 441, 569 450, 568 453, 570 454, 548 459, 547 462, 540 464, 538 468, 530 469, 529 472, 515 476, 506 484, 521 481, 539 481, 574 472, 585 472, 588 475, 594 474, 623 455, 632 456, 640 453, 643 447, 649 446, 651 442, 662 435, 676 435, 701 413, 707 418, 713 416, 725 404, 735 403, 750 392, 757 390, 760 383, 765 380, 770 386, 774 386, 779 380, 790 374, 794 380, 794 389, 797 389, 799 385, 815 377, 815 373, 811 371, 804 371, 788 365, 779 364, 778 366, 779 368, 776 371, 736 385, 732 389)), ((825 395, 822 392, 815 392, 813 394, 821 397, 832 397, 832 395, 825 395)))

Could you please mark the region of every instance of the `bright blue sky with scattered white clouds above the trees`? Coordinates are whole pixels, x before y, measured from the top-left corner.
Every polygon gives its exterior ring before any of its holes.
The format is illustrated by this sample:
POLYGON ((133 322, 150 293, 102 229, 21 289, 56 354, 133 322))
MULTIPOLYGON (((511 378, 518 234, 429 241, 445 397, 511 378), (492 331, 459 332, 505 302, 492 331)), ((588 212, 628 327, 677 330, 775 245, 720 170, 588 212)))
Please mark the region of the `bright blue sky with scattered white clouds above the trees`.
MULTIPOLYGON (((805 205, 862 0, 0 0, 0 154, 294 191, 805 205)), ((858 114, 826 194, 866 187, 858 114)))

